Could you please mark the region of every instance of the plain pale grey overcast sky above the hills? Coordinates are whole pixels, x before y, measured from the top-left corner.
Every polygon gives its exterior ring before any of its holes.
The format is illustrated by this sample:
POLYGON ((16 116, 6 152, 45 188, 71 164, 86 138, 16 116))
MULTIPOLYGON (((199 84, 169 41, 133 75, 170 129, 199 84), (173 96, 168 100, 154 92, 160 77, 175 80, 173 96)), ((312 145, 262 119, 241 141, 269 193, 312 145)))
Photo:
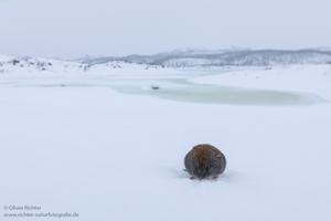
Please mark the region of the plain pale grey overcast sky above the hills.
POLYGON ((0 54, 331 46, 331 0, 0 0, 0 54))

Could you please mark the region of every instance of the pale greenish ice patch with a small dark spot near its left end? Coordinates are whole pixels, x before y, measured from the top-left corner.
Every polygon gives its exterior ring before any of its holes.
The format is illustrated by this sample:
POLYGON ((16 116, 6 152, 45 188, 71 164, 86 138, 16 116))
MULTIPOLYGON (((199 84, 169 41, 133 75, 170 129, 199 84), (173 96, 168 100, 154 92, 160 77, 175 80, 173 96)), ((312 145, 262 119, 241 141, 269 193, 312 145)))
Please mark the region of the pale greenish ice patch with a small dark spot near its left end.
POLYGON ((218 85, 194 84, 186 81, 172 81, 172 84, 149 86, 114 86, 121 93, 156 96, 160 98, 228 105, 313 105, 324 102, 318 95, 296 92, 248 90, 218 85), (173 84, 174 83, 174 84, 173 84))

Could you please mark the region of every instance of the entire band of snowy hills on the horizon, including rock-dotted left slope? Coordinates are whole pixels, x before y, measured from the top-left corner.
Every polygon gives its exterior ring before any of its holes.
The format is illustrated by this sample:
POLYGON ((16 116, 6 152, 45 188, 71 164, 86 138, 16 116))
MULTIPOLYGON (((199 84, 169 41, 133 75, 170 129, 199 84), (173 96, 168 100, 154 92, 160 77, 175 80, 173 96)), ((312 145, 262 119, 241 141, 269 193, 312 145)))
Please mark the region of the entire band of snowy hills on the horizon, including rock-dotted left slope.
POLYGON ((7 72, 87 72, 90 70, 149 70, 160 67, 270 66, 331 64, 331 50, 177 50, 154 55, 89 57, 74 61, 31 56, 0 55, 0 73, 7 72))

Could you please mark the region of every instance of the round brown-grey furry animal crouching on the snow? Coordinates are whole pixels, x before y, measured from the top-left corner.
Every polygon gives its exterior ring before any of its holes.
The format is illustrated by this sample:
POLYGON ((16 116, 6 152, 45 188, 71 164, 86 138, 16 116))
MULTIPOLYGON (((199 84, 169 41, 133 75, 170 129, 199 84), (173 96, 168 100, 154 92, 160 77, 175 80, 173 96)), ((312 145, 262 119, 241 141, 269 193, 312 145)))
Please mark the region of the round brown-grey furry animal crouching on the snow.
POLYGON ((226 167, 225 156, 212 145, 197 145, 184 159, 186 171, 192 178, 217 178, 226 167))

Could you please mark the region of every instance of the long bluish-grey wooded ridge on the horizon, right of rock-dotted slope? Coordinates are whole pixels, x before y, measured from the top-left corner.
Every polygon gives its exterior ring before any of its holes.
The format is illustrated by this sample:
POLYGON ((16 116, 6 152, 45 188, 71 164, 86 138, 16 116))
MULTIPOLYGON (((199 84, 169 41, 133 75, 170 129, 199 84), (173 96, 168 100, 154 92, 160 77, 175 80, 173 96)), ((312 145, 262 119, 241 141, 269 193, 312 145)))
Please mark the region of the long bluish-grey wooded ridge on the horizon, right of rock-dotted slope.
POLYGON ((331 64, 331 51, 328 50, 183 50, 154 55, 129 55, 121 57, 87 59, 86 64, 102 64, 122 61, 137 64, 186 66, 261 66, 287 64, 331 64))

